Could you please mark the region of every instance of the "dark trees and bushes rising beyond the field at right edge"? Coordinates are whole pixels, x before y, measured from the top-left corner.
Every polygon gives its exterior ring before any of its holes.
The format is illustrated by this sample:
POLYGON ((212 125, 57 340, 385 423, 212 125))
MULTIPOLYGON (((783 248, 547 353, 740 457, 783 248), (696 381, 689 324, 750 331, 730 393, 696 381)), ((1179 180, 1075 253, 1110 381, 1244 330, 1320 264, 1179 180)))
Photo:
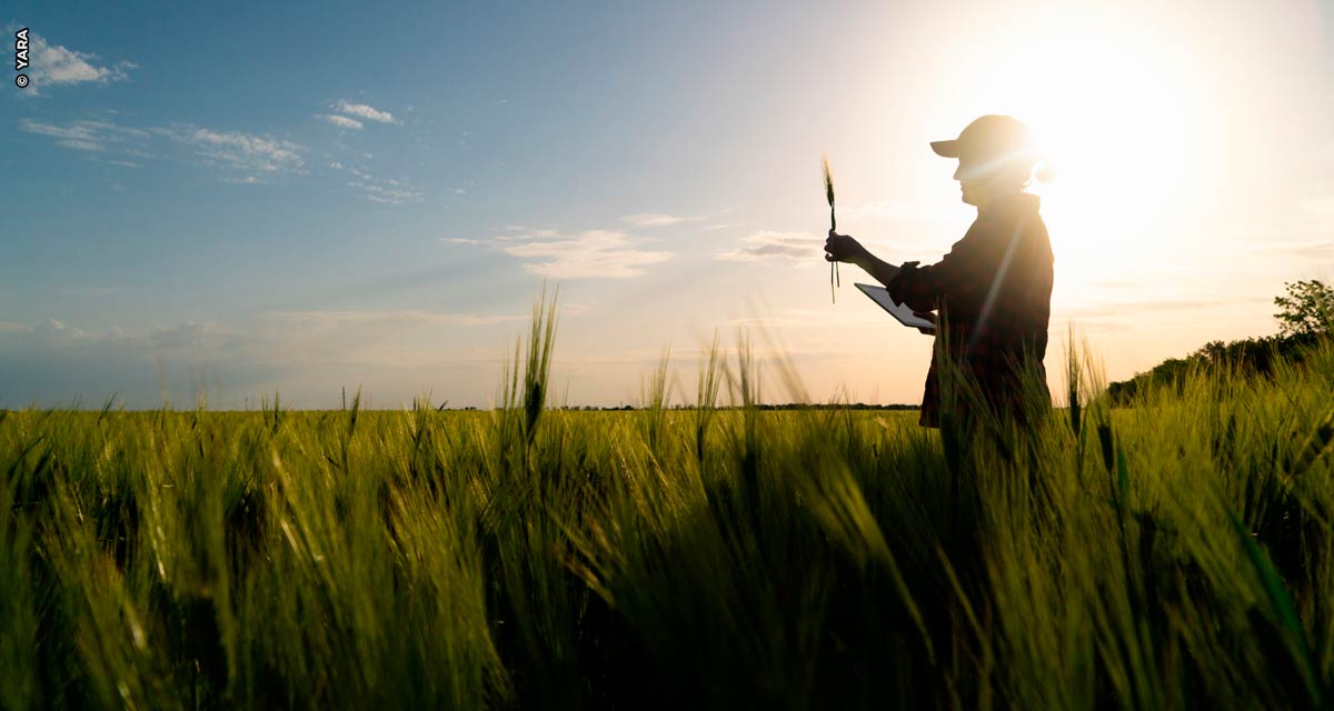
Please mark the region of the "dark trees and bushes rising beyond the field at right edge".
POLYGON ((1334 289, 1319 280, 1285 284, 1287 296, 1274 299, 1279 332, 1274 336, 1206 343, 1186 358, 1170 358, 1149 372, 1113 383, 1107 391, 1115 406, 1130 404, 1135 395, 1158 387, 1181 388, 1186 374, 1198 368, 1225 368, 1269 376, 1279 363, 1301 364, 1311 347, 1334 333, 1334 289))

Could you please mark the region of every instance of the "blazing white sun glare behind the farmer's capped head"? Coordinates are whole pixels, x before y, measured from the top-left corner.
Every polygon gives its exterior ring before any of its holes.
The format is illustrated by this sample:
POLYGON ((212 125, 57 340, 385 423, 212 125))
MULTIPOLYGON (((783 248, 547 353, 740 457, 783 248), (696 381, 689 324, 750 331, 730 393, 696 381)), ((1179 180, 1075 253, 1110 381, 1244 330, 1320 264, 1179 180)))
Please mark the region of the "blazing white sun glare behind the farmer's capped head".
POLYGON ((987 64, 959 72, 955 101, 1034 129, 1057 173, 1034 192, 1069 276, 1133 269, 1207 200, 1207 96, 1167 28, 1075 11, 1017 27, 978 33, 987 64))

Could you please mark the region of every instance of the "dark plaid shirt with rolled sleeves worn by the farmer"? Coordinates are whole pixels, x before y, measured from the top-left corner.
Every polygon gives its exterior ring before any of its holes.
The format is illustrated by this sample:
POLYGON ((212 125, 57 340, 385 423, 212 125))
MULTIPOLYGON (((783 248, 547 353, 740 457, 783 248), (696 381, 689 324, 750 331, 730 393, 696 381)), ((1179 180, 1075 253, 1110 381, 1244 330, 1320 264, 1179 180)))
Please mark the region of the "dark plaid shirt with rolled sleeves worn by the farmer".
MULTIPOLYGON (((914 311, 940 309, 948 355, 971 372, 992 407, 1021 414, 1013 363, 1034 367, 1043 380, 1051 312, 1051 241, 1038 197, 1019 193, 988 203, 950 253, 936 264, 908 261, 888 292, 914 311)), ((920 424, 939 427, 938 359, 931 356, 920 424)))

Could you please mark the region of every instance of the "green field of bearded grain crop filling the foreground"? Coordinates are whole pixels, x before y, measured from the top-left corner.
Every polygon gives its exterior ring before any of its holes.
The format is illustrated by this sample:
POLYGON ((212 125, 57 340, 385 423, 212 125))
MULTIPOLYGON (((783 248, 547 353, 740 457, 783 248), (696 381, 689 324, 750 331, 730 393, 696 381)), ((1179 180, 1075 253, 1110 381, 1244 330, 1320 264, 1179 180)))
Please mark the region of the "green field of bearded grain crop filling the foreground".
POLYGON ((490 412, 0 412, 0 703, 1331 702, 1334 348, 942 436, 544 410, 551 344, 490 412))

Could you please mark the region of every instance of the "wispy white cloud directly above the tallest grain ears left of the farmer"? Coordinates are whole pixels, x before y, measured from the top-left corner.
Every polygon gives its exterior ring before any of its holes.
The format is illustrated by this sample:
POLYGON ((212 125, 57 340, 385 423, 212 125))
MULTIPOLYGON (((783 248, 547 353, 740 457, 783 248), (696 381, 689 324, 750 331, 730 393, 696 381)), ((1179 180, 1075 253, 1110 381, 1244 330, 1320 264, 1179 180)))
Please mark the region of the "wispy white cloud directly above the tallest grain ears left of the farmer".
POLYGON ((624 232, 606 229, 571 236, 512 235, 510 240, 526 243, 504 247, 507 253, 540 260, 524 264, 524 268, 551 279, 630 279, 644 273, 643 267, 674 256, 671 252, 636 249, 624 232))

